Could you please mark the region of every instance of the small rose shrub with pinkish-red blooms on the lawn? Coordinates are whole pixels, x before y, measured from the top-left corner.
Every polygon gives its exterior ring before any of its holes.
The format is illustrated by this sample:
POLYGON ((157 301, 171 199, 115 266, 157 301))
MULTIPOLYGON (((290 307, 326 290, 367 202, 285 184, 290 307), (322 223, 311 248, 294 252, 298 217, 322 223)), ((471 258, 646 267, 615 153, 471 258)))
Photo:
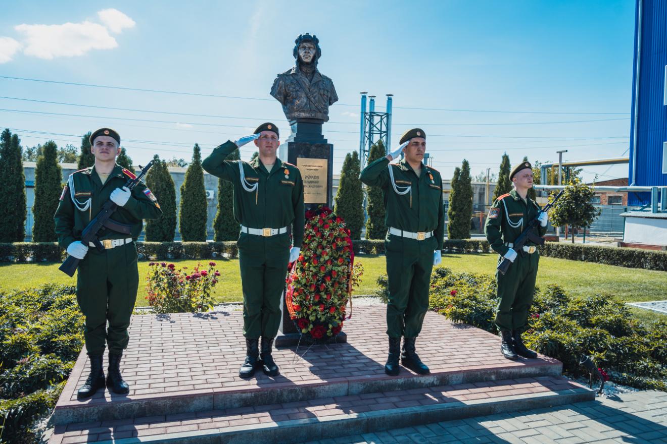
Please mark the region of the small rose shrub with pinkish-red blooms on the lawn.
POLYGON ((211 290, 219 281, 220 272, 215 270, 215 262, 209 262, 207 270, 200 265, 192 273, 175 270, 174 264, 151 262, 146 278, 148 304, 155 313, 207 312, 213 308, 211 290))

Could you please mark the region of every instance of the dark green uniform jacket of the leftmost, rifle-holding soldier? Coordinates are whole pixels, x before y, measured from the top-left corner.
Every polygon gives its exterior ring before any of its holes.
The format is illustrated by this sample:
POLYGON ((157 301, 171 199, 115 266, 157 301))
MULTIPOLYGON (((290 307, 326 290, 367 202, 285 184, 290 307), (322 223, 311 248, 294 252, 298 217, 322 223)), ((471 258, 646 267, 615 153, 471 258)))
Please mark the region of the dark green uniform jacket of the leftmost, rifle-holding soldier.
MULTIPOLYGON (((81 240, 81 232, 83 232, 83 229, 88 225, 91 218, 97 216, 99 210, 109 200, 111 192, 116 188, 124 186, 127 179, 134 176, 134 173, 116 164, 106 182, 104 182, 104 185, 102 185, 97 172, 95 172, 95 166, 73 172, 71 176, 74 182, 75 199, 79 204, 83 204, 91 198, 91 204, 85 211, 76 208, 71 199, 69 184, 65 185, 63 194, 60 196, 58 209, 55 210, 55 216, 53 216, 55 219, 55 232, 58 235, 58 244, 62 248, 67 248, 75 240, 81 240)), ((130 236, 134 240, 137 240, 137 237, 141 234, 143 219, 157 219, 161 214, 162 210, 160 210, 160 206, 157 200, 155 200, 153 193, 151 193, 143 182, 139 182, 132 189, 132 194, 125 206, 119 207, 111 215, 111 220, 131 225, 132 232, 130 236)), ((104 227, 99 230, 98 234, 99 240, 123 239, 130 236, 104 227)))

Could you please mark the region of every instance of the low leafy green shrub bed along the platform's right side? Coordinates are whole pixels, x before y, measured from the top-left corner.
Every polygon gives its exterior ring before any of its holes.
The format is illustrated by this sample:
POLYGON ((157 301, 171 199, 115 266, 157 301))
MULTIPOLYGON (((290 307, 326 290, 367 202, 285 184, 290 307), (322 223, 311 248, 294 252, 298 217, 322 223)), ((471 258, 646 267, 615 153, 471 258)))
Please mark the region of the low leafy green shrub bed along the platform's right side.
MULTIPOLYGON (((378 294, 386 294, 385 275, 378 278, 378 285, 378 294)), ((434 268, 430 309, 454 322, 498 333, 493 276, 434 268)), ((566 373, 582 373, 580 358, 589 355, 612 381, 667 391, 667 320, 644 324, 610 295, 580 298, 558 286, 544 291, 536 288, 524 340, 529 347, 562 361, 566 373)))

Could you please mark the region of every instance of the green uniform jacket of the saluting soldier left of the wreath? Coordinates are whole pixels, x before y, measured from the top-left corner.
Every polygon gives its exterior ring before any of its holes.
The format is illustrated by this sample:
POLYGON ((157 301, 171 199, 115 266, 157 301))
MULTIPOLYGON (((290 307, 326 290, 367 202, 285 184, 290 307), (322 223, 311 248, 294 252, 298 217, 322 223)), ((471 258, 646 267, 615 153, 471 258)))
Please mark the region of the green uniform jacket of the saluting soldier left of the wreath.
POLYGON ((201 167, 234 186, 234 218, 248 228, 282 228, 292 226, 294 246, 301 248, 305 209, 303 181, 296 166, 275 159, 271 172, 259 161, 225 160, 237 146, 227 140, 201 162, 201 167), (247 184, 259 183, 257 190, 248 192, 241 185, 239 164, 247 184))

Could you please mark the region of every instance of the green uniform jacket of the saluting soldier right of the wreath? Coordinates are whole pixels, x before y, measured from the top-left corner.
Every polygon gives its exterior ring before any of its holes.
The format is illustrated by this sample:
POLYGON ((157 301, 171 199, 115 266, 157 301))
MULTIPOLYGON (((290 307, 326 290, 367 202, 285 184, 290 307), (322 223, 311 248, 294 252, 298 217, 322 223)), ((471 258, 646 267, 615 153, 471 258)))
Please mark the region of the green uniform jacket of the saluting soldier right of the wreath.
MULTIPOLYGON (((437 250, 442 250, 445 236, 445 213, 442 206, 442 178, 440 172, 430 166, 422 166, 422 174, 412 170, 408 162, 401 160, 392 164, 394 180, 399 187, 412 186, 411 193, 394 191, 386 157, 372 162, 364 168, 360 179, 366 185, 379 186, 384 196, 385 224, 388 227, 410 232, 434 232, 438 241, 437 250)), ((402 188, 399 188, 402 189, 402 188)))

